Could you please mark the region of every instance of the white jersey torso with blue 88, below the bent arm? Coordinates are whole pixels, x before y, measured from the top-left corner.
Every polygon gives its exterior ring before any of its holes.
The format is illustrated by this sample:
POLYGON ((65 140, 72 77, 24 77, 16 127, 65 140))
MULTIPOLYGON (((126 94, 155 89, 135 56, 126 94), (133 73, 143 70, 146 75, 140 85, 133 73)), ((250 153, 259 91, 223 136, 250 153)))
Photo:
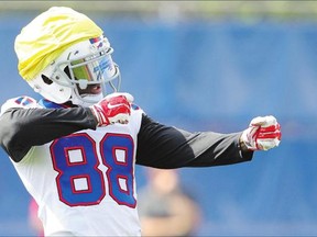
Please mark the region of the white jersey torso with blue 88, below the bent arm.
POLYGON ((141 236, 134 163, 142 113, 133 109, 127 125, 80 131, 12 161, 46 236, 141 236))

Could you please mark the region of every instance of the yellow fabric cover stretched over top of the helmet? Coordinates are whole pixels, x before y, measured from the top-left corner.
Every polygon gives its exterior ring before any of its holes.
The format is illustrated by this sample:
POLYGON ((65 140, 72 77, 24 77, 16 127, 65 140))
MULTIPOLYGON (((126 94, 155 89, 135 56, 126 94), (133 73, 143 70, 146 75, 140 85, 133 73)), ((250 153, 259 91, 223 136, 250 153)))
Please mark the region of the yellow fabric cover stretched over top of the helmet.
POLYGON ((66 48, 102 33, 85 14, 66 7, 53 7, 31 21, 17 36, 14 49, 19 74, 30 81, 66 48))

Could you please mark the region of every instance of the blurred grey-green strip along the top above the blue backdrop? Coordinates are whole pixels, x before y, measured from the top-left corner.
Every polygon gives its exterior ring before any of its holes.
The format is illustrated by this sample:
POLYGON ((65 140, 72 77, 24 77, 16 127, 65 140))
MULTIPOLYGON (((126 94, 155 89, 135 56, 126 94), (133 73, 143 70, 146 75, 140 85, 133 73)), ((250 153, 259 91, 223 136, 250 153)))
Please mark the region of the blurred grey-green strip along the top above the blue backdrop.
POLYGON ((316 20, 317 1, 0 1, 0 14, 65 5, 108 15, 166 19, 316 20))

